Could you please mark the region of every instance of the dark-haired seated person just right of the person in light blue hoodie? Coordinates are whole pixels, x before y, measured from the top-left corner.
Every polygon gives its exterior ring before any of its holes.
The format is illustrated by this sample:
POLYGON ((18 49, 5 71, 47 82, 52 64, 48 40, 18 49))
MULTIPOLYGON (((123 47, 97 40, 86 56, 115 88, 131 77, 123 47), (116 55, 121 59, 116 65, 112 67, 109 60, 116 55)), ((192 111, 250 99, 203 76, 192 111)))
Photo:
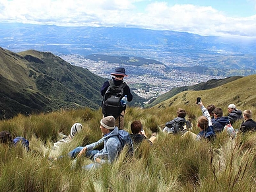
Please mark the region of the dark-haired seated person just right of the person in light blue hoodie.
POLYGON ((145 135, 141 121, 133 121, 131 123, 131 133, 130 136, 134 144, 141 144, 143 141, 148 141, 149 144, 152 144, 145 135))

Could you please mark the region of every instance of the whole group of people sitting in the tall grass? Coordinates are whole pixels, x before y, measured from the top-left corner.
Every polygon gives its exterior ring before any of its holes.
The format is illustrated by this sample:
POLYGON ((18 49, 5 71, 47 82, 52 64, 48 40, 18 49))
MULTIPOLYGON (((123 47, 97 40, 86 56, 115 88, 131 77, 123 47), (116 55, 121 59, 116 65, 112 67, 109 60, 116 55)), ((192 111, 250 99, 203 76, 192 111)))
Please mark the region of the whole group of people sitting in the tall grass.
MULTIPOLYGON (((215 108, 214 105, 209 105, 207 108, 203 105, 203 102, 198 103, 201 108, 203 115, 197 119, 197 126, 200 129, 200 132, 196 135, 189 129, 192 128, 191 122, 185 119, 186 112, 185 110, 179 108, 177 110, 177 117, 172 121, 166 123, 166 127, 162 130, 164 133, 177 134, 181 135, 190 134, 199 141, 201 139, 214 139, 216 133, 223 131, 225 125, 228 123, 233 124, 238 119, 243 119, 241 123, 240 131, 245 133, 247 131, 255 131, 256 122, 253 121, 251 110, 237 110, 234 104, 228 106, 228 117, 223 116, 223 111, 221 108, 215 108)), ((71 134, 63 137, 60 141, 53 145, 53 150, 59 148, 61 143, 69 143, 75 134, 82 130, 82 125, 80 123, 75 123, 71 127, 71 134)), ((115 127, 115 118, 113 116, 103 117, 100 120, 100 130, 103 137, 96 141, 95 143, 87 144, 86 146, 78 146, 74 150, 71 150, 67 156, 72 159, 77 157, 85 156, 88 157, 94 162, 83 166, 85 170, 90 170, 92 168, 98 168, 103 163, 112 163, 119 156, 119 153, 122 150, 121 142, 118 137, 119 129, 115 127), (98 149, 98 146, 102 146, 101 149, 98 149)), ((157 131, 156 131, 157 132, 157 131)), ((143 141, 152 145, 156 141, 156 132, 152 133, 150 138, 146 137, 146 134, 143 130, 143 124, 141 121, 133 121, 131 123, 131 134, 130 137, 134 144, 140 144, 143 141)), ((11 141, 11 136, 6 132, 1 133, 2 136, 7 136, 7 139, 4 137, 1 139, 1 143, 4 143, 5 140, 11 141), (10 138, 9 138, 10 137, 10 138)))

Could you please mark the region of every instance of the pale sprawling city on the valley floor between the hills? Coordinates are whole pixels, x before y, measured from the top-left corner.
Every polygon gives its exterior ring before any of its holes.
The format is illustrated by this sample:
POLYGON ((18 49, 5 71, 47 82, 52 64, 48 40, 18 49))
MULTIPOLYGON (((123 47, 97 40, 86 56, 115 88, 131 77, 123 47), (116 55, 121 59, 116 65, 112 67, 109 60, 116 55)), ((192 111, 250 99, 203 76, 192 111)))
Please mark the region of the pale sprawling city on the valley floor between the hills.
MULTIPOLYGON (((71 65, 88 69, 90 72, 110 79, 110 73, 115 67, 125 67, 128 77, 125 82, 139 96, 150 100, 174 87, 191 86, 200 82, 207 82, 210 79, 224 79, 224 77, 216 77, 210 75, 201 75, 199 73, 189 73, 179 71, 177 69, 166 71, 165 65, 147 64, 141 66, 123 65, 119 63, 108 63, 107 61, 93 61, 86 59, 80 55, 59 55, 71 65)), ((183 67, 183 66, 179 66, 183 67)))

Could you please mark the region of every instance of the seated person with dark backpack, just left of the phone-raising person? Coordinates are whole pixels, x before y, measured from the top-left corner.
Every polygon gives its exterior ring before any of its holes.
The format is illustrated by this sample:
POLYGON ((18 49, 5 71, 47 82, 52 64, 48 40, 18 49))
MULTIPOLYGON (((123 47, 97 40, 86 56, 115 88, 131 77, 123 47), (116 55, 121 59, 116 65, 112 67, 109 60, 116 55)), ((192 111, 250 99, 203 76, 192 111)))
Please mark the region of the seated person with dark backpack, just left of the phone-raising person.
POLYGON ((172 121, 166 123, 163 131, 166 133, 185 133, 188 129, 191 129, 191 123, 185 119, 186 111, 179 108, 177 110, 177 117, 172 121))

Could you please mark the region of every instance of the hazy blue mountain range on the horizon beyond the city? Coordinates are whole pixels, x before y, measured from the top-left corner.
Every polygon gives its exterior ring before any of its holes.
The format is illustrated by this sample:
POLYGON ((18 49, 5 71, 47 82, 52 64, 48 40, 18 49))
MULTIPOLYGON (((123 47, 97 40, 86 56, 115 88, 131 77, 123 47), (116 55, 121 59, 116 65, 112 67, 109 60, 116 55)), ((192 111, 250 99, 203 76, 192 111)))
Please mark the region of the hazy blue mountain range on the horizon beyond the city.
MULTIPOLYGON (((199 36, 141 28, 0 23, 0 45, 15 52, 36 49, 55 55, 144 57, 164 63, 170 69, 179 67, 224 77, 251 75, 256 70, 256 40, 253 38, 199 36)), ((121 63, 118 59, 116 62, 121 63)))

